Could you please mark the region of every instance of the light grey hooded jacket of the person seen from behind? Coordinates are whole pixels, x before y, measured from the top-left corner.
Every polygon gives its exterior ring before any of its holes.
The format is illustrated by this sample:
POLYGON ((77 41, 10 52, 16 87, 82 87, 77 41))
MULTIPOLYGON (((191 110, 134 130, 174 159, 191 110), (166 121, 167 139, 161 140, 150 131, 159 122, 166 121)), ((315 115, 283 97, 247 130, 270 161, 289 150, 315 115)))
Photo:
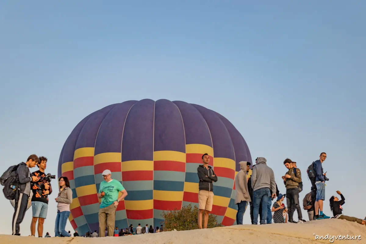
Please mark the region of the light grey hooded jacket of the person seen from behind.
POLYGON ((273 170, 269 168, 266 164, 267 159, 258 158, 257 164, 252 170, 251 175, 251 184, 253 187, 253 191, 257 191, 261 188, 269 188, 270 191, 276 192, 276 181, 275 174, 273 170))

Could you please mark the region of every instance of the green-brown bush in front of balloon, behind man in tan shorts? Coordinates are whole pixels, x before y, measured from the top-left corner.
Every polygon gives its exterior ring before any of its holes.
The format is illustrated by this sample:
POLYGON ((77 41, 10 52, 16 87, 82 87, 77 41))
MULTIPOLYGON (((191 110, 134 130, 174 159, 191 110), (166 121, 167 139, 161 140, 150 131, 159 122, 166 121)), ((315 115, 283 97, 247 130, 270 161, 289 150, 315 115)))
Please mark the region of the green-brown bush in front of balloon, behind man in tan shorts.
MULTIPOLYGON (((198 229, 198 207, 192 204, 183 206, 181 210, 163 211, 164 231, 167 230, 194 230, 198 229)), ((203 220, 203 215, 202 215, 203 220)), ((203 224, 202 224, 203 225, 203 224)), ((222 226, 217 223, 217 216, 209 214, 207 228, 222 226)))

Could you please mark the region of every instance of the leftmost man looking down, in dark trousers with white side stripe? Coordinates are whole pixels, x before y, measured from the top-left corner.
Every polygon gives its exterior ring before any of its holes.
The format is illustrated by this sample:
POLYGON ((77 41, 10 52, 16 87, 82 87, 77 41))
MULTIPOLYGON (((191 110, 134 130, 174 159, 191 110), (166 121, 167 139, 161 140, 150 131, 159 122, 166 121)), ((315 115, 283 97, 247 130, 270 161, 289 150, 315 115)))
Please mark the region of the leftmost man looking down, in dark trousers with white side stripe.
POLYGON ((28 157, 27 162, 21 162, 18 165, 16 173, 19 179, 20 194, 18 200, 15 201, 14 215, 12 222, 13 235, 20 236, 19 225, 22 223, 25 213, 27 211, 28 199, 30 195, 30 184, 39 180, 37 176, 30 176, 29 168, 35 167, 40 160, 36 154, 32 154, 28 157))

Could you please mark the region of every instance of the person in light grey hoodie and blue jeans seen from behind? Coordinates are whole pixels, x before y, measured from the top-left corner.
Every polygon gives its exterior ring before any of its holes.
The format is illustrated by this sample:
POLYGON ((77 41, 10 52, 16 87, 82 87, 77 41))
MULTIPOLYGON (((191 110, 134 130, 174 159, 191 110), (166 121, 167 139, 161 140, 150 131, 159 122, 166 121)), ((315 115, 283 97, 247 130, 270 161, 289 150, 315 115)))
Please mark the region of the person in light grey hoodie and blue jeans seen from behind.
POLYGON ((268 214, 268 203, 272 198, 276 197, 276 181, 273 170, 266 164, 267 159, 259 157, 257 165, 252 169, 251 185, 253 187, 253 224, 258 224, 259 204, 262 204, 262 220, 261 225, 266 224, 268 214))

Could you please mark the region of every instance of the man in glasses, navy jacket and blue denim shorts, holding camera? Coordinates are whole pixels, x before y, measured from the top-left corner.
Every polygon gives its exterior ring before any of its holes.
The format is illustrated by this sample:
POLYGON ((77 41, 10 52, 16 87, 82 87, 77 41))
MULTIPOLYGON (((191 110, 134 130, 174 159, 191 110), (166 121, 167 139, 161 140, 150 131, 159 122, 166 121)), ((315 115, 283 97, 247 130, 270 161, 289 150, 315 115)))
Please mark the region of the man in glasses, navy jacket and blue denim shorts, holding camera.
POLYGON ((315 219, 328 219, 330 217, 323 213, 323 201, 325 200, 325 177, 326 172, 323 173, 322 163, 326 159, 326 153, 320 154, 320 159, 314 162, 314 170, 316 172, 315 186, 317 187, 317 197, 315 199, 315 219))

